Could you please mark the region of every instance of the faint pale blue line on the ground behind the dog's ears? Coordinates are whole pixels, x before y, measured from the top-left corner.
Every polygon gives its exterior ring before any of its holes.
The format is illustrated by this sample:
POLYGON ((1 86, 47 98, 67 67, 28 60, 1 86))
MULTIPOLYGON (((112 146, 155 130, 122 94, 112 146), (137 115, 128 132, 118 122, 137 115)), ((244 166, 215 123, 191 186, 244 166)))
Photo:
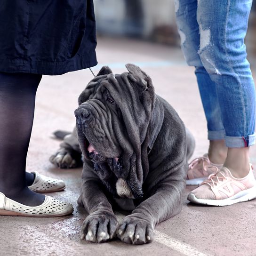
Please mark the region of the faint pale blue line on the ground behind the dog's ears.
POLYGON ((117 68, 125 68, 125 64, 132 63, 141 68, 145 67, 170 67, 170 66, 184 66, 186 65, 185 61, 154 61, 154 62, 113 62, 113 63, 99 63, 97 66, 93 67, 93 69, 100 70, 102 66, 109 66, 112 69, 117 68))

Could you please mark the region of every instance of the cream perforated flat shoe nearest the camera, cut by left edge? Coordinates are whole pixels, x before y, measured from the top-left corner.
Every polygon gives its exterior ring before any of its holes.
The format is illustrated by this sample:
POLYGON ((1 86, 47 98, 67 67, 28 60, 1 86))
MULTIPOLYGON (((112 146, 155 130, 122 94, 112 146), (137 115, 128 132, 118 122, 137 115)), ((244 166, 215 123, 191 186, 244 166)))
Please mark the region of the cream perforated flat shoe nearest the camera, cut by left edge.
POLYGON ((72 214, 73 210, 72 204, 64 203, 50 196, 45 196, 44 202, 39 206, 26 206, 9 199, 0 192, 0 215, 60 217, 72 214))

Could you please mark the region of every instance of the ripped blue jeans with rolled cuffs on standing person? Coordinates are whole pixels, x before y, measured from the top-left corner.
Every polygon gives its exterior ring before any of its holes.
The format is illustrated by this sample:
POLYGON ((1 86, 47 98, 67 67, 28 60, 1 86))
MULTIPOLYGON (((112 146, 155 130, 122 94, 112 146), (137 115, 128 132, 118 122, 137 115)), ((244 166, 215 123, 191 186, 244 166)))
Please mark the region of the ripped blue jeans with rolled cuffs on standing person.
POLYGON ((208 139, 255 144, 255 85, 244 38, 252 0, 176 0, 187 64, 195 66, 208 139))

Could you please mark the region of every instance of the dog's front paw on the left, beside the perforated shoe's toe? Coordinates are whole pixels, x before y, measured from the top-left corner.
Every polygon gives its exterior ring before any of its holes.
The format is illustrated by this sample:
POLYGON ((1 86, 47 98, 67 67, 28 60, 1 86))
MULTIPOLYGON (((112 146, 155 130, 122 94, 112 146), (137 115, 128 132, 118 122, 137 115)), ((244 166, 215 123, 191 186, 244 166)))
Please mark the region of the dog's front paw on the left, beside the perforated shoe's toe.
POLYGON ((95 243, 106 242, 114 237, 117 227, 118 222, 114 215, 89 215, 82 224, 81 239, 95 243))

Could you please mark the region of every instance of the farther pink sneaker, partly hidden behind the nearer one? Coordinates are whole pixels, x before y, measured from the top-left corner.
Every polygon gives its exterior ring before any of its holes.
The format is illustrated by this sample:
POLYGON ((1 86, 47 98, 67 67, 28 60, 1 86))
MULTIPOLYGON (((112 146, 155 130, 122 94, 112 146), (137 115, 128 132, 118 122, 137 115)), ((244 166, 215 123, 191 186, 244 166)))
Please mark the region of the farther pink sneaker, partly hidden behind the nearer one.
POLYGON ((210 174, 216 173, 222 164, 214 164, 209 158, 208 154, 204 154, 198 157, 189 164, 187 172, 187 185, 199 185, 201 184, 210 174))

